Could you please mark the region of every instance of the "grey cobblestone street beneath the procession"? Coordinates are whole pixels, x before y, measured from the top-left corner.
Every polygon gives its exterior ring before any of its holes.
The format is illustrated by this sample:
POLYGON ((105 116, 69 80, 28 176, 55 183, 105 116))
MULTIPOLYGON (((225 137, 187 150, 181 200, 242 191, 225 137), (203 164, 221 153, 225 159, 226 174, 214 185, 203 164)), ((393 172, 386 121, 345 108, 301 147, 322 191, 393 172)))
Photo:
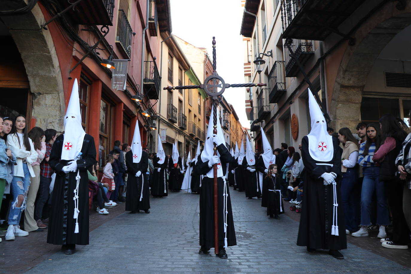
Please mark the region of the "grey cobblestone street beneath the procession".
MULTIPOLYGON (((348 249, 342 251, 344 260, 336 260, 326 251, 307 253, 304 247, 296 246, 298 221, 295 216, 283 214, 280 220, 270 219, 260 206, 261 200, 248 200, 243 192, 230 190, 238 245, 227 249, 227 260, 216 257, 213 250, 208 255, 197 253, 199 196, 180 191, 166 198, 151 199, 150 214, 124 212, 106 221, 90 232, 90 245, 77 246, 72 256, 64 255, 57 246, 42 243, 49 251, 37 258, 37 262, 42 262, 33 264, 35 267, 28 273, 409 271, 397 262, 370 252, 367 246, 349 244, 348 249)), ((296 215, 287 208, 286 212, 296 215)), ((94 212, 91 214, 94 217, 94 212)), ((21 237, 14 242, 3 242, 1 246, 6 250, 2 251, 7 252, 13 246, 21 248, 28 244, 31 235, 23 237, 25 242, 21 237)), ((401 252, 409 257, 408 250, 401 252)), ((7 253, 3 256, 7 257, 7 253)), ((14 261, 10 256, 8 259, 9 263, 14 261)), ((5 266, 7 268, 7 263, 5 266)), ((23 269, 18 271, 16 267, 14 271, 21 273, 23 269)))

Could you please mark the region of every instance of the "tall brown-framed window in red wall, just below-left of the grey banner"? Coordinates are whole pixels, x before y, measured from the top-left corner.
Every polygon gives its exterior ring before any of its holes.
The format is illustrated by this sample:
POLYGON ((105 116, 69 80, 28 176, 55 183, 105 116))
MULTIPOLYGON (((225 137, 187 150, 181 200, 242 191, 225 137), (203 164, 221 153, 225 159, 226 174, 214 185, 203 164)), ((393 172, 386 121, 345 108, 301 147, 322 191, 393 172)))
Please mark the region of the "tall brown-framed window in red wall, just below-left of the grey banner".
POLYGON ((104 168, 106 155, 110 152, 113 143, 112 129, 114 118, 114 105, 109 101, 101 99, 100 102, 100 136, 99 136, 99 165, 104 168))

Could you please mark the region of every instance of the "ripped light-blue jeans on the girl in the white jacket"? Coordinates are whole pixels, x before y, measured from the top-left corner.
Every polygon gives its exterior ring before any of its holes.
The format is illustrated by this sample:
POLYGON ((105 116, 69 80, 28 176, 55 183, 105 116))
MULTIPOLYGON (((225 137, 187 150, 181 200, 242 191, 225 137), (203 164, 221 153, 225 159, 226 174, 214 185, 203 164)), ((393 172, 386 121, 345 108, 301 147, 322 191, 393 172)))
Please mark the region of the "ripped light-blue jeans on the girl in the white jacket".
POLYGON ((12 180, 11 188, 13 192, 14 202, 12 203, 12 207, 10 208, 9 225, 18 226, 18 224, 20 223, 21 212, 25 210, 27 192, 30 186, 30 172, 28 170, 27 163, 23 163, 23 172, 24 177, 14 176, 12 180), (23 197, 23 203, 20 207, 17 207, 18 196, 23 197))

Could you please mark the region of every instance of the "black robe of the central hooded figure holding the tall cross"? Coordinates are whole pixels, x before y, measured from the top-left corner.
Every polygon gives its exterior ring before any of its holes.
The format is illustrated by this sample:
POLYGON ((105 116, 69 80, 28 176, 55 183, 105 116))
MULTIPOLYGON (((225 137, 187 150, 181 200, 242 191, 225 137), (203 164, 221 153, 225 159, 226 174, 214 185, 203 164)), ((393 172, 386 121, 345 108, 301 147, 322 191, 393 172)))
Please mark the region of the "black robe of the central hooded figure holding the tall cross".
MULTIPOLYGON (((220 154, 223 177, 226 173, 226 164, 233 160, 229 150, 225 145, 219 145, 217 150, 220 154)), ((204 175, 201 183, 200 193, 200 245, 207 249, 214 247, 214 178, 206 176, 212 167, 208 167, 208 161, 203 162, 201 155, 194 168, 195 172, 204 175)), ((225 177, 224 177, 225 178, 225 177)), ((229 187, 222 177, 217 178, 218 192, 218 245, 224 246, 224 184, 226 184, 227 194, 227 246, 237 244, 236 232, 234 230, 233 211, 231 210, 231 199, 229 187)))

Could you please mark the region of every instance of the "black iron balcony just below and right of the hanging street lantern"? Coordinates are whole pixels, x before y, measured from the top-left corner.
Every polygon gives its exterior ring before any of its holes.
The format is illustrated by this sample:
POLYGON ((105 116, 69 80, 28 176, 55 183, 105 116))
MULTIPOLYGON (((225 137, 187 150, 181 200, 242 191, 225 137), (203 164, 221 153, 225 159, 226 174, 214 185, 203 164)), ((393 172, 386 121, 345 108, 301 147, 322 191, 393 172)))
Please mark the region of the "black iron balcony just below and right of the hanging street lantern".
POLYGON ((278 100, 286 93, 284 61, 275 61, 268 75, 268 89, 270 90, 270 103, 278 103, 278 100))

